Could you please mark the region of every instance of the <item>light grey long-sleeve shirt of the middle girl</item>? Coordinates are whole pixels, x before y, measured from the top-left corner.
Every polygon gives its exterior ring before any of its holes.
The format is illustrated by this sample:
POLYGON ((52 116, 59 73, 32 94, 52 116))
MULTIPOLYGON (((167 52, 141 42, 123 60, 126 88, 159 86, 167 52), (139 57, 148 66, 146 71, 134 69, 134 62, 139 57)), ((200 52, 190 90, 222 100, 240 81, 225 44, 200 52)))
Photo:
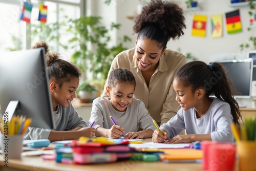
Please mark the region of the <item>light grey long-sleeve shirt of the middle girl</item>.
POLYGON ((116 111, 111 100, 106 97, 98 97, 93 101, 90 122, 95 121, 94 128, 101 126, 105 129, 111 129, 113 122, 110 115, 114 118, 116 123, 124 128, 124 132, 137 132, 141 127, 143 130, 152 129, 156 130, 156 126, 152 121, 152 117, 145 108, 144 103, 133 98, 132 103, 127 106, 126 111, 116 111))

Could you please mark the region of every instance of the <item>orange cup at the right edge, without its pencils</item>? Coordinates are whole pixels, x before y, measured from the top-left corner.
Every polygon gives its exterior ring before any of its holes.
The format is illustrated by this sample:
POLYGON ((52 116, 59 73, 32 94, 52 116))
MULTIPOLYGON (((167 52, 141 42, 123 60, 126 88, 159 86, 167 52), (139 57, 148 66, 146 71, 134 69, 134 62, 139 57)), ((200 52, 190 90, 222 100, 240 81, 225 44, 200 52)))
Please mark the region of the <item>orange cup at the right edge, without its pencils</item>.
POLYGON ((237 154, 240 171, 256 170, 256 141, 237 142, 237 154))

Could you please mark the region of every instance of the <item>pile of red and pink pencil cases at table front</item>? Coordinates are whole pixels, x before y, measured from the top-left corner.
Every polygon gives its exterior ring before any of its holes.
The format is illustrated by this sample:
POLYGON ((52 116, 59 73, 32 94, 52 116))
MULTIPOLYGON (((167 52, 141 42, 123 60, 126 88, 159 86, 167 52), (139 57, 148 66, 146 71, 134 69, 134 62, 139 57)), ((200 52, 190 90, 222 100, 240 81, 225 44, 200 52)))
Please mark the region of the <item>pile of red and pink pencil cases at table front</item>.
POLYGON ((129 159, 132 156, 129 141, 126 140, 113 142, 104 137, 80 137, 79 140, 72 141, 70 145, 73 160, 77 164, 114 162, 129 159))

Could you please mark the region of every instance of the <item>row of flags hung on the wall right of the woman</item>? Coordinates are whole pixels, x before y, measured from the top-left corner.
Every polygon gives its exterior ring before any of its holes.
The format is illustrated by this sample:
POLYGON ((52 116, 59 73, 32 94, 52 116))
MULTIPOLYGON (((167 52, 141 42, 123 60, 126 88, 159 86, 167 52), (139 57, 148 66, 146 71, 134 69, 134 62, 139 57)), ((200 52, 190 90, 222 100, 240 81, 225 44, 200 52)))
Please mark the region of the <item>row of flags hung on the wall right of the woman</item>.
MULTIPOLYGON (((225 17, 226 17, 226 22, 225 22, 226 31, 228 34, 242 32, 242 24, 241 24, 239 10, 227 12, 225 13, 225 17)), ((256 23, 256 13, 253 15, 253 17, 250 18, 249 22, 250 22, 250 25, 254 25, 256 23)), ((194 14, 191 35, 205 37, 206 23, 207 23, 207 15, 194 14)), ((223 34, 222 14, 211 15, 210 23, 211 23, 211 37, 212 38, 221 37, 223 34)))

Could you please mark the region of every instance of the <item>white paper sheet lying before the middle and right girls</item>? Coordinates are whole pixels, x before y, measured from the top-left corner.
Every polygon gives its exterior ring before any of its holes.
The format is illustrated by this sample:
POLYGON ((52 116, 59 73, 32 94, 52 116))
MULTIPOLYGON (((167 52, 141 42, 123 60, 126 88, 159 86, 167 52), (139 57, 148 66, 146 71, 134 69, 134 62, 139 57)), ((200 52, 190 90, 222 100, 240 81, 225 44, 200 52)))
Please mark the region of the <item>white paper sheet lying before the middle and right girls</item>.
POLYGON ((144 142, 142 144, 129 144, 130 147, 134 148, 188 148, 190 145, 191 143, 165 144, 154 142, 144 142))

